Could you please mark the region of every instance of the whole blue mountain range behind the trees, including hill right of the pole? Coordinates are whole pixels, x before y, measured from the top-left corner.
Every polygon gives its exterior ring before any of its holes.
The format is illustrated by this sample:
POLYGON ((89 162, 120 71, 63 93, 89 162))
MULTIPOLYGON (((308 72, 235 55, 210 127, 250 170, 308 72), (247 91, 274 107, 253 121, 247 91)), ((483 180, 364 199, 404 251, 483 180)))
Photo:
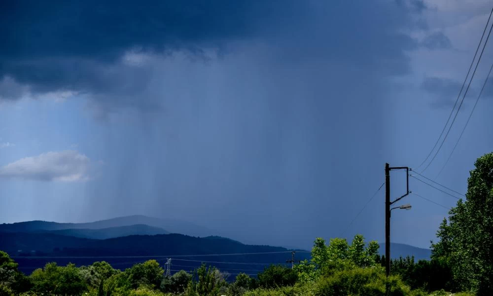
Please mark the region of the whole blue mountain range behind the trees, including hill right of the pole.
MULTIPOLYGON (((89 223, 3 223, 0 250, 12 256, 27 273, 50 261, 86 265, 106 260, 116 268, 126 268, 146 259, 161 262, 166 258, 173 258, 176 269, 189 270, 205 261, 226 271, 248 268, 250 273, 256 273, 271 263, 285 264, 292 249, 246 245, 193 223, 129 216, 89 223)), ((416 260, 430 259, 431 253, 397 243, 392 243, 390 250, 392 258, 409 255, 416 260)), ((296 251, 296 259, 310 259, 309 252, 296 251)), ((385 244, 380 244, 380 254, 384 253, 385 244)))

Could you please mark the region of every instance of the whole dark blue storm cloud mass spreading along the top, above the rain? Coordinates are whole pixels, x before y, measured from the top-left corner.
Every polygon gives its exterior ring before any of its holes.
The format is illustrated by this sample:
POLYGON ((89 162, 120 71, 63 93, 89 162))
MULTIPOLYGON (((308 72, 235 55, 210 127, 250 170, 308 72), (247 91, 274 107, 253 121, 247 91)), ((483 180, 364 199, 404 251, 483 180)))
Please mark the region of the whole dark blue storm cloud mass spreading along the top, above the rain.
POLYGON ((283 64, 323 58, 372 74, 405 74, 409 71, 405 51, 417 43, 398 30, 417 25, 411 14, 423 9, 419 3, 5 2, 0 7, 4 41, 0 76, 29 86, 35 94, 87 93, 105 112, 117 105, 156 110, 162 101, 148 90, 152 63, 122 63, 129 50, 158 56, 176 51, 200 55, 207 49, 228 52, 231 43, 252 40, 267 44, 273 60, 283 64))

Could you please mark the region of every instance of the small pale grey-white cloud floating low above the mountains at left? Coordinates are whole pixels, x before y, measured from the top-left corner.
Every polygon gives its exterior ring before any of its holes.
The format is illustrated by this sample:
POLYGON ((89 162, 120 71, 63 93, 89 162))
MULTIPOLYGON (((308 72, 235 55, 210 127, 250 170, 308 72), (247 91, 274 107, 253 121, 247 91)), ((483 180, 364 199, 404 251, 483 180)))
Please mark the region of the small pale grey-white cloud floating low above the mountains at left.
POLYGON ((46 152, 0 167, 0 178, 36 181, 87 181, 91 160, 75 150, 46 152))

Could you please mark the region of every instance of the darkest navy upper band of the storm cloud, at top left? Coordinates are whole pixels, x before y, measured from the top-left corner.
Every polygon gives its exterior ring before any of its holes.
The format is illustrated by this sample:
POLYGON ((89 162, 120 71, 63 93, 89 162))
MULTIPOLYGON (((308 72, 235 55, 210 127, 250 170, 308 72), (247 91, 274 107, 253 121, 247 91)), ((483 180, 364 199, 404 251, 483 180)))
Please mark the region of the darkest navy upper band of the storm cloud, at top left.
MULTIPOLYGON (((299 4, 300 2, 298 2, 299 4)), ((132 46, 190 47, 253 34, 300 16, 294 1, 35 1, 2 2, 3 59, 47 56, 111 61, 132 46), (272 23, 272 20, 277 23, 272 23)))

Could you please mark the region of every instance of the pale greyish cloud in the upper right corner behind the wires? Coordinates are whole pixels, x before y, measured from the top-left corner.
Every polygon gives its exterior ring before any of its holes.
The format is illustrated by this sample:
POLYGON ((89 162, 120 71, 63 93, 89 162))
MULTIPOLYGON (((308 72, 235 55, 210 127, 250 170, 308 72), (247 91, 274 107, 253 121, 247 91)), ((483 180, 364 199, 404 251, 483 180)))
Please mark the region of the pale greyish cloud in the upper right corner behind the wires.
MULTIPOLYGON (((450 41, 451 46, 431 49, 422 46, 410 52, 415 79, 423 81, 425 77, 437 77, 461 83, 484 31, 491 11, 491 1, 425 0, 425 4, 429 9, 424 11, 423 17, 429 27, 418 29, 410 35, 420 42, 427 37, 440 35, 442 41, 446 43, 450 41)), ((476 84, 486 77, 489 66, 493 62, 491 54, 488 54, 489 45, 481 59, 471 89, 480 87, 476 84)), ((460 84, 454 91, 458 92, 459 89, 460 84)), ((455 100, 456 96, 452 96, 451 100, 455 100)))

